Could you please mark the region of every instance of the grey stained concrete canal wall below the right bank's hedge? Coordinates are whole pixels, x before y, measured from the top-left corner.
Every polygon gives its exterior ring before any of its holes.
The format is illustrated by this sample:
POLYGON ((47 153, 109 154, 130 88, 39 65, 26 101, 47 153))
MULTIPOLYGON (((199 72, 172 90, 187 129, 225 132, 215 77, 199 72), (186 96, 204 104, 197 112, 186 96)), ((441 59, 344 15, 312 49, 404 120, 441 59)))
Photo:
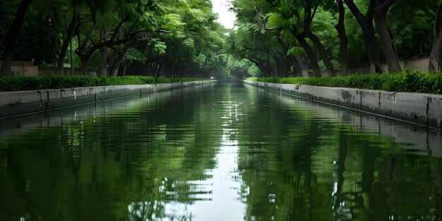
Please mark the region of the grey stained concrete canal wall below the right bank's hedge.
POLYGON ((442 95, 263 83, 252 80, 243 82, 289 95, 442 129, 442 95))

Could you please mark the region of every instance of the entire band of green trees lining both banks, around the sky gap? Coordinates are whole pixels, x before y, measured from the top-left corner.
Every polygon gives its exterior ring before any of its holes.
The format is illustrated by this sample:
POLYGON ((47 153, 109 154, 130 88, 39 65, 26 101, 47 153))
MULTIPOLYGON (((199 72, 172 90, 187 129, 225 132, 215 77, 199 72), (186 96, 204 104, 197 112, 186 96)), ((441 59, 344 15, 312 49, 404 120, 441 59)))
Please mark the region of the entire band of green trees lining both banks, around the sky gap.
POLYGON ((393 73, 412 56, 441 71, 441 5, 232 0, 229 30, 209 0, 1 0, 1 74, 13 60, 67 73, 71 53, 81 73, 100 76, 345 76, 362 64, 393 73))

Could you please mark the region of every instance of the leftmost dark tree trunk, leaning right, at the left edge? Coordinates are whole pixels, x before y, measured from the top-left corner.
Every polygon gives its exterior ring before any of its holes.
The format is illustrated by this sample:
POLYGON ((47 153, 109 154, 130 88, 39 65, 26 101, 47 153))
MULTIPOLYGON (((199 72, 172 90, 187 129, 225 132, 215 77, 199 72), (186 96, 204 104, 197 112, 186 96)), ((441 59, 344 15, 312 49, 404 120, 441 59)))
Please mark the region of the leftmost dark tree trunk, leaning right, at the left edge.
POLYGON ((6 37, 3 42, 5 49, 3 53, 3 61, 1 61, 0 76, 11 74, 14 49, 23 25, 23 20, 25 20, 26 11, 28 11, 31 2, 32 0, 21 1, 20 6, 18 6, 17 9, 16 16, 14 17, 8 32, 6 32, 6 37))

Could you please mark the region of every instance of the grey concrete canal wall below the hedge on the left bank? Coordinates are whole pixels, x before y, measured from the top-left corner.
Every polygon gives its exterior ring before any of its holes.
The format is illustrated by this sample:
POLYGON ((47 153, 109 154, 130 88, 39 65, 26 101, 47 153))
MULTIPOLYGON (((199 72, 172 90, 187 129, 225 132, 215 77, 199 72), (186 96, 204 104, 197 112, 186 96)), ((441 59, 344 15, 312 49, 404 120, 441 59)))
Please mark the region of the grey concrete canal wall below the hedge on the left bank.
POLYGON ((201 80, 151 85, 116 85, 90 88, 0 92, 0 119, 36 112, 47 112, 54 109, 119 97, 142 95, 161 90, 210 84, 215 81, 216 80, 201 80))

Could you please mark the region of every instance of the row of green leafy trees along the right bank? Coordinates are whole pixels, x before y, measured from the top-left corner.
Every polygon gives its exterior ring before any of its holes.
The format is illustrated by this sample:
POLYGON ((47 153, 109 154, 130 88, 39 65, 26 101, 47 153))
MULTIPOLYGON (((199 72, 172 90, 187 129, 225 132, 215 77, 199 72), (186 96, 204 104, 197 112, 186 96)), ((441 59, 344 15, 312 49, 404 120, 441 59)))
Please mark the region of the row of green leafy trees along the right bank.
POLYGON ((350 65, 364 63, 371 73, 398 73, 405 71, 399 57, 422 54, 430 54, 430 72, 442 68, 440 0, 234 0, 233 6, 230 52, 266 77, 345 76, 350 65))

